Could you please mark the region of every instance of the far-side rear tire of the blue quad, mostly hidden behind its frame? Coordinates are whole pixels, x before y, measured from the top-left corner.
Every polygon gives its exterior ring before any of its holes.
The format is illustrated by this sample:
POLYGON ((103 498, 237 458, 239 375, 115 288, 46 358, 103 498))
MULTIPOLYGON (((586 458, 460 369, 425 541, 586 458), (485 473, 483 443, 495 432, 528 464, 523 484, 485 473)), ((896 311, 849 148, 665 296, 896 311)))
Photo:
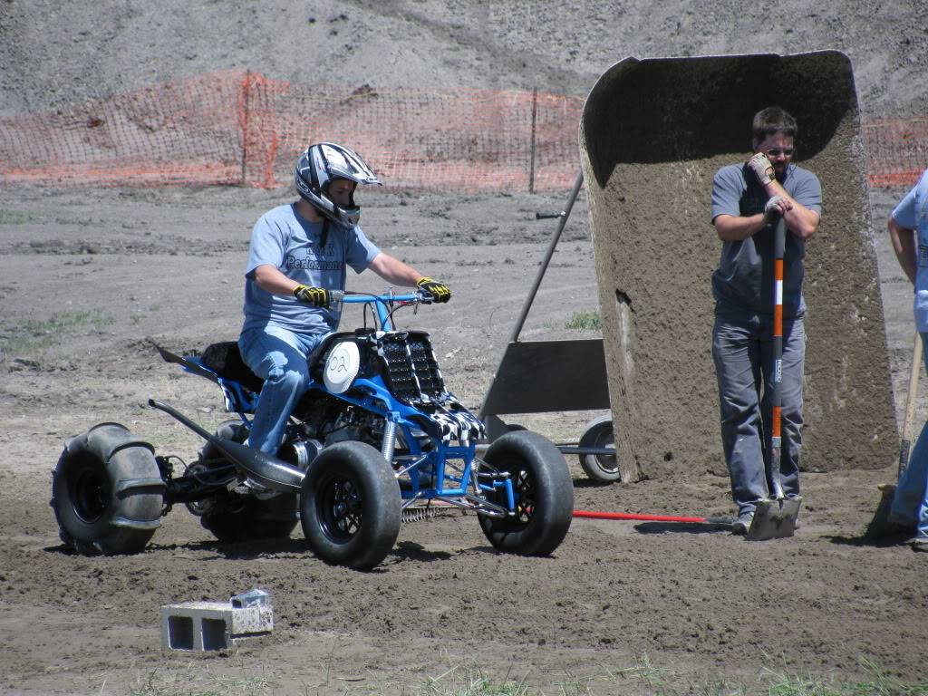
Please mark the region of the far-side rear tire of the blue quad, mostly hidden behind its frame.
MULTIPOLYGON (((248 438, 248 428, 241 420, 226 420, 219 424, 216 436, 241 444, 248 438)), ((227 460, 216 445, 208 442, 200 450, 200 461, 221 461, 225 464, 227 460)), ((208 471, 208 468, 205 470, 208 471)), ((298 506, 299 499, 295 493, 257 498, 224 491, 189 503, 187 509, 200 517, 200 525, 216 539, 236 543, 289 537, 296 529, 298 506)))

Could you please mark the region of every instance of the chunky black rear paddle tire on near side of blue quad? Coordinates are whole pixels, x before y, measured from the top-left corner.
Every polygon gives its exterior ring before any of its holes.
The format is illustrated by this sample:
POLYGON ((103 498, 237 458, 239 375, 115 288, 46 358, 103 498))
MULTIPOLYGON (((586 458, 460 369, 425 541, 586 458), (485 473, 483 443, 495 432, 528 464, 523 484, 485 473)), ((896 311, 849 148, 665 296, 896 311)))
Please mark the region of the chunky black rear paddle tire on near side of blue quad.
POLYGON ((71 438, 58 458, 58 535, 88 556, 137 553, 161 526, 164 489, 151 445, 119 423, 100 423, 71 438))

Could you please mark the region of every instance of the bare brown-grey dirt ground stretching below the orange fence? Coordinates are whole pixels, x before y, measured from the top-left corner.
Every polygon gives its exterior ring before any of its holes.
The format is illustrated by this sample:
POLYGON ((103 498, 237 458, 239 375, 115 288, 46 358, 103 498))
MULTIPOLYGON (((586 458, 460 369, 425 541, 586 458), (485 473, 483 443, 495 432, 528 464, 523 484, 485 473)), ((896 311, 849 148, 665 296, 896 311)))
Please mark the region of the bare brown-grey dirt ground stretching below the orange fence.
MULTIPOLYGON (((873 192, 875 220, 899 193, 873 192)), ((264 675, 280 693, 398 693, 478 664, 499 678, 527 675, 547 693, 572 679, 594 693, 638 693, 645 688, 635 678, 608 676, 643 656, 672 669, 682 690, 687 679, 753 683, 765 668, 851 677, 862 660, 923 676, 928 555, 860 539, 875 485, 894 480, 892 469, 806 474, 801 529, 768 543, 713 528, 574 520, 550 558, 523 559, 496 553, 472 515, 448 514, 405 524, 386 561, 356 573, 316 561, 299 528, 286 541, 224 545, 178 508, 142 554, 65 553, 47 501, 66 438, 115 420, 159 454, 192 458, 198 438, 148 408, 148 398, 208 428, 225 418, 211 383, 161 362, 145 340, 184 351, 237 335, 251 224, 287 197, 0 190, 0 692, 122 694, 151 674, 182 678, 192 664, 264 675), (161 605, 225 601, 252 586, 273 594, 270 636, 207 656, 161 651, 161 605)), ((432 332, 445 379, 468 406, 480 404, 554 230, 535 212, 564 202, 367 198, 371 237, 455 292, 452 303, 401 323, 432 332)), ((884 234, 877 243, 901 409, 909 295, 884 234)), ((522 338, 594 336, 563 328, 596 306, 592 268, 581 199, 522 338)), ((381 284, 363 275, 350 287, 381 284)), ((522 422, 566 441, 596 415, 522 422)), ((570 466, 577 509, 732 511, 728 480, 686 462, 660 480, 605 486, 570 466)))

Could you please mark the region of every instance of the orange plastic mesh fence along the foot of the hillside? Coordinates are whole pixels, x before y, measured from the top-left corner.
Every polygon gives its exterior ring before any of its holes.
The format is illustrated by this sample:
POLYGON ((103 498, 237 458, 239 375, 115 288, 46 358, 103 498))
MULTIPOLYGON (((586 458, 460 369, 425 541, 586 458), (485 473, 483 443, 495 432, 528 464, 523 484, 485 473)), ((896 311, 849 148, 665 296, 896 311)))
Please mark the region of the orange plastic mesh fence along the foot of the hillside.
MULTIPOLYGON (((0 184, 277 187, 309 143, 350 144, 392 188, 569 189, 583 97, 500 90, 349 89, 245 71, 0 119, 0 184)), ((864 126, 870 182, 928 165, 928 119, 864 126)))

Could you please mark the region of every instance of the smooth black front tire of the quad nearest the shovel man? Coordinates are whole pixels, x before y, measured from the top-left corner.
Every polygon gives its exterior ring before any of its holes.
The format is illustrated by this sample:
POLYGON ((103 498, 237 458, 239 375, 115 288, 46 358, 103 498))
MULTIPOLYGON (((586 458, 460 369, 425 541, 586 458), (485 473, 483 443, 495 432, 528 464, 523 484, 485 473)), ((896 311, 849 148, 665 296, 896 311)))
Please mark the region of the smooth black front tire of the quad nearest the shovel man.
MULTIPOLYGON (((483 458, 487 468, 509 472, 516 515, 480 516, 483 534, 495 548, 526 556, 544 556, 561 544, 574 514, 574 482, 561 451, 537 432, 509 432, 483 458)), ((507 506, 506 491, 487 495, 507 506)))

